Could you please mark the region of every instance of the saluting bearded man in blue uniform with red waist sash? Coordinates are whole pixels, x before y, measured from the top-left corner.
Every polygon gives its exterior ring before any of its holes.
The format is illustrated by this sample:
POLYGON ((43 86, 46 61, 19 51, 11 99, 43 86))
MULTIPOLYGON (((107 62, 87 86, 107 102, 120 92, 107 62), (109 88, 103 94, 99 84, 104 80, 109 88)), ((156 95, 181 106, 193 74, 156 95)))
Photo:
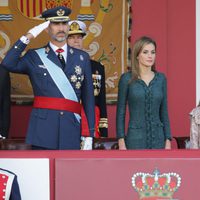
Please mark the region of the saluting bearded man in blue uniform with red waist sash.
POLYGON ((8 70, 27 74, 32 83, 35 97, 26 142, 33 149, 80 149, 80 101, 89 124, 83 149, 92 149, 95 114, 91 66, 86 52, 66 44, 70 13, 64 6, 44 11, 46 22, 22 36, 2 61, 8 70), (50 42, 20 57, 43 30, 50 42))

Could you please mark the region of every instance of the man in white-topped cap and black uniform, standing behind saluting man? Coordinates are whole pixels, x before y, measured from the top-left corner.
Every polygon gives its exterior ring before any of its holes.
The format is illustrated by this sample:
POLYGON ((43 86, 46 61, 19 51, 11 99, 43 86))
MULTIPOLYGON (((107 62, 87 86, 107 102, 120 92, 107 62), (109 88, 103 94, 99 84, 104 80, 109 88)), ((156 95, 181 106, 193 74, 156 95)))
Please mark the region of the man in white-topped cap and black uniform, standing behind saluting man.
MULTIPOLYGON (((86 35, 86 24, 79 20, 69 22, 68 45, 83 49, 83 37, 86 35)), ((106 109, 105 71, 104 66, 94 60, 90 60, 92 67, 92 79, 95 96, 95 137, 108 136, 108 119, 106 109)), ((82 135, 87 135, 87 120, 82 112, 82 135)))

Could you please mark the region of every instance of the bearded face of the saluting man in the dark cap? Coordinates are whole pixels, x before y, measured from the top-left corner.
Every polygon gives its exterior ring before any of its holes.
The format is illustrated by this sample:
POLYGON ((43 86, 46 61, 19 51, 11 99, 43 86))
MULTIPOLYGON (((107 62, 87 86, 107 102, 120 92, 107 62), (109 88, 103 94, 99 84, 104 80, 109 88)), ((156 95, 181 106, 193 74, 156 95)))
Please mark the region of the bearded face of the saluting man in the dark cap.
POLYGON ((51 22, 47 31, 52 40, 63 42, 67 38, 68 30, 67 22, 51 22))

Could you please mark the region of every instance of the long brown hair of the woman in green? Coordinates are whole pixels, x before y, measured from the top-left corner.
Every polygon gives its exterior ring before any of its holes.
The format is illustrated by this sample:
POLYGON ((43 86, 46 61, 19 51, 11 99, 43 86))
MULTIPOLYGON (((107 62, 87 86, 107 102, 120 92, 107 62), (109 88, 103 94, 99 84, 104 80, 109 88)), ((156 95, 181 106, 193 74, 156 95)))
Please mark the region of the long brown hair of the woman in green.
MULTIPOLYGON (((147 36, 142 36, 141 38, 136 40, 136 42, 134 43, 132 47, 132 56, 131 56, 132 80, 137 80, 138 77, 140 76, 139 62, 138 62, 137 57, 142 51, 143 47, 147 44, 153 44, 156 50, 156 47, 157 47, 156 42, 147 36)), ((156 71, 155 63, 152 65, 151 70, 156 71)))

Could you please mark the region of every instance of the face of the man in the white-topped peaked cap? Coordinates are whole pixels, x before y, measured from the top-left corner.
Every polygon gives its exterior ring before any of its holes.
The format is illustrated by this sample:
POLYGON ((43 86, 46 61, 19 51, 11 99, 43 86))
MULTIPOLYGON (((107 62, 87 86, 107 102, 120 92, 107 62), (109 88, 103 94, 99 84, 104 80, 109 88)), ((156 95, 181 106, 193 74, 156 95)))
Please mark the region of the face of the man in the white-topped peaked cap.
POLYGON ((69 35, 67 38, 67 43, 71 47, 83 49, 83 36, 81 34, 69 35))

